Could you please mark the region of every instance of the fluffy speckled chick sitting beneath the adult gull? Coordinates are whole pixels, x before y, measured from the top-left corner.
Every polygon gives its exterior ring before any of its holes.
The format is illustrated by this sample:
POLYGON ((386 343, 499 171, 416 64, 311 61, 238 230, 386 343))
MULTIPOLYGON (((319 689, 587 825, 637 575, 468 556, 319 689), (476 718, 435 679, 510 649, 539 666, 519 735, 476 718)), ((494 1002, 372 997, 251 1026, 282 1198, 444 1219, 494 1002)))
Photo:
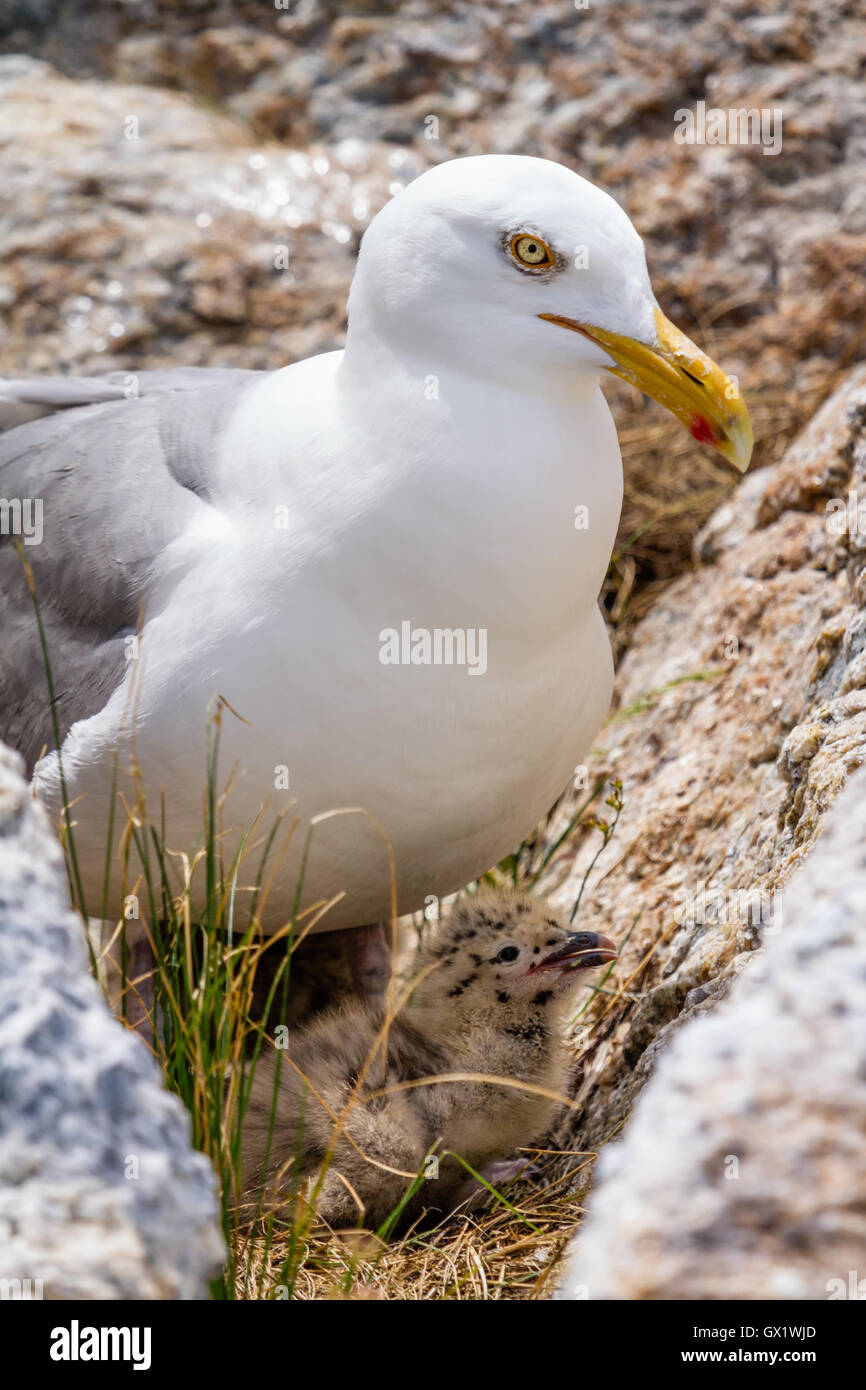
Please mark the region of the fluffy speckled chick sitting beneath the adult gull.
POLYGON ((525 894, 460 899, 418 951, 414 984, 391 1019, 384 1004, 350 1001, 291 1036, 270 1151, 277 1054, 263 1055, 245 1118, 245 1191, 264 1187, 268 1202, 285 1198, 331 1152, 316 1198, 331 1226, 379 1227, 410 1187, 406 1175, 423 1168, 434 1176, 403 1208, 402 1223, 425 1209, 452 1211, 471 1186, 453 1154, 491 1172, 549 1126, 556 1101, 524 1087, 563 1093, 575 986, 614 958, 606 937, 574 933, 525 894), (523 1086, 406 1086, 456 1072, 523 1086))

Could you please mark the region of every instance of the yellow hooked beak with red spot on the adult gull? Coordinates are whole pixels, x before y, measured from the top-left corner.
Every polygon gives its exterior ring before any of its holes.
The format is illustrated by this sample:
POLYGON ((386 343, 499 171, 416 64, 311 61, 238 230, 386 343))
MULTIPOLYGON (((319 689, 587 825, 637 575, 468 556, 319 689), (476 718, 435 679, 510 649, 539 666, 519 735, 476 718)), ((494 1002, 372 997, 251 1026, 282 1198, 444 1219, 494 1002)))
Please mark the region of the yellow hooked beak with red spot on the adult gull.
POLYGON ((737 379, 726 375, 660 309, 655 310, 657 336, 652 346, 560 314, 538 317, 598 343, 616 363, 607 371, 646 392, 695 439, 712 445, 745 473, 752 457, 752 424, 737 379))

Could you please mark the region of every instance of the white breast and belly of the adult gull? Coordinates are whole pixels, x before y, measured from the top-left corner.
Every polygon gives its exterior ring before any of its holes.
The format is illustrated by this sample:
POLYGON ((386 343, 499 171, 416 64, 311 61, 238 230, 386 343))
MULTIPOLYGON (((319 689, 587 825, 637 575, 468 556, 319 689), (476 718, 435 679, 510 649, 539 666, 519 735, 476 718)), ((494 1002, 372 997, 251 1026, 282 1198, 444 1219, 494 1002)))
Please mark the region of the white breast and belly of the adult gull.
MULTIPOLYGON (((261 805, 265 820, 302 819, 271 887, 272 926, 291 915, 309 819, 374 817, 314 830, 303 897, 345 894, 329 927, 388 915, 385 835, 400 912, 512 851, 603 719, 612 660, 596 596, 621 474, 595 382, 531 407, 485 384, 481 406, 480 384, 446 368, 434 398, 428 374, 389 373, 370 411, 368 384, 341 375, 339 360, 274 373, 245 398, 217 510, 149 596, 135 698, 118 691, 67 739, 71 796, 90 808, 78 853, 99 895, 106 823, 93 808, 107 815, 132 708, 149 805, 164 788, 168 844, 188 853, 202 842, 209 701, 222 695, 249 721, 222 723, 224 777, 236 766, 227 860, 261 805), (484 674, 384 663, 382 632, 403 624, 430 632, 434 655, 436 630, 466 634, 475 657, 484 632, 484 674), (275 785, 282 769, 288 790, 275 785)), ((56 808, 50 762, 39 785, 56 808)))

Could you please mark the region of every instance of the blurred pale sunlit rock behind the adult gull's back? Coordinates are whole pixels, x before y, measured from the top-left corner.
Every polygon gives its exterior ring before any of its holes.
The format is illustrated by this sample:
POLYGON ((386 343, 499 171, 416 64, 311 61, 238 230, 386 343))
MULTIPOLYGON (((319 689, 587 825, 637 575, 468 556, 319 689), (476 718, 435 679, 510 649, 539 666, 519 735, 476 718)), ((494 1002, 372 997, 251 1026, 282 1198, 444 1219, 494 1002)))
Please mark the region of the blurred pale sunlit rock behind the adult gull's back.
POLYGON ((0 374, 281 367, 336 348, 360 232, 420 171, 263 146, 156 88, 0 57, 0 374))

